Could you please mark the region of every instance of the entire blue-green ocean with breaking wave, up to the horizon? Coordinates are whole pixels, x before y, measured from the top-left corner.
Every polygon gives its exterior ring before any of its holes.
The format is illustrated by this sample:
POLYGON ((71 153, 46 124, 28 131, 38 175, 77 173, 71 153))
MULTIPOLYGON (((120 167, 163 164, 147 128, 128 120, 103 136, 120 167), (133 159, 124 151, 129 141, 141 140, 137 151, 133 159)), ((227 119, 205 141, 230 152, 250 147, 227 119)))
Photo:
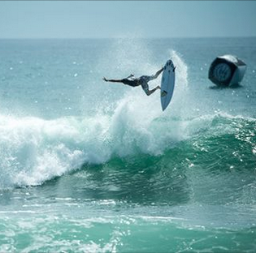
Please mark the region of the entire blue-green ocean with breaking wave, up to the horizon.
POLYGON ((0 252, 256 251, 255 37, 0 40, 0 55, 0 252), (238 88, 207 78, 223 54, 247 64, 238 88), (102 81, 168 58, 164 112, 158 91, 102 81))

